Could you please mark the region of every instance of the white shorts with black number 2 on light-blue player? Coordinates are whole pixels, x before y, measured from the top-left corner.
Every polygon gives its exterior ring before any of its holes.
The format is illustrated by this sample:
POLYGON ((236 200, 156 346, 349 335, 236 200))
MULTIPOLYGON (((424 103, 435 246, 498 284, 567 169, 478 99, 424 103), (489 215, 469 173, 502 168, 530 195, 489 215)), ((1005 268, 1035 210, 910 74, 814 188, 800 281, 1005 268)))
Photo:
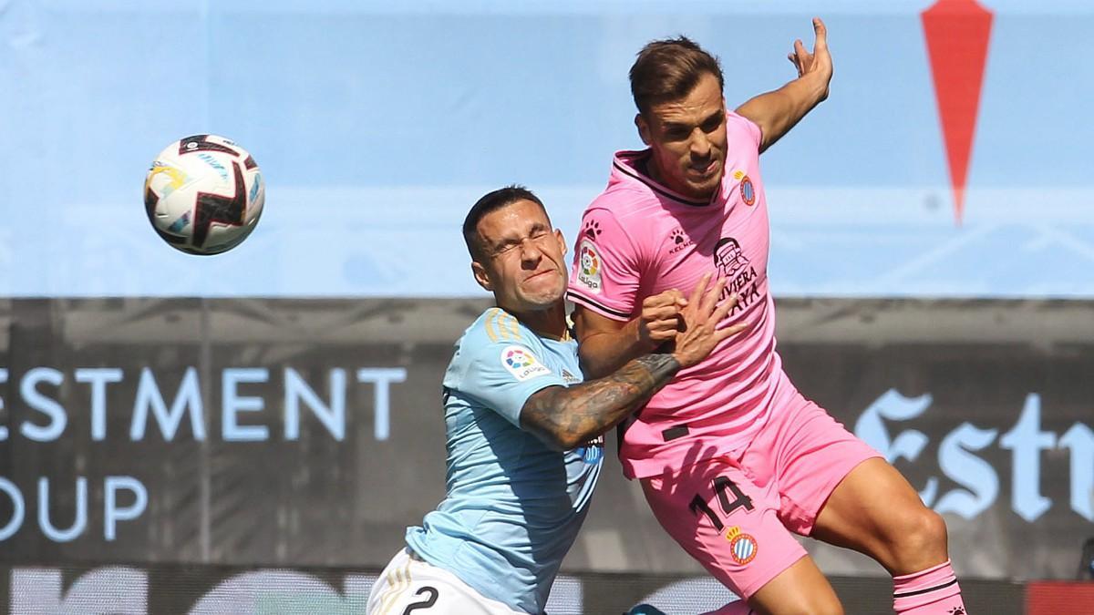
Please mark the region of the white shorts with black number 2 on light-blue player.
POLYGON ((369 615, 527 615, 490 600, 458 577, 403 549, 369 594, 369 615))

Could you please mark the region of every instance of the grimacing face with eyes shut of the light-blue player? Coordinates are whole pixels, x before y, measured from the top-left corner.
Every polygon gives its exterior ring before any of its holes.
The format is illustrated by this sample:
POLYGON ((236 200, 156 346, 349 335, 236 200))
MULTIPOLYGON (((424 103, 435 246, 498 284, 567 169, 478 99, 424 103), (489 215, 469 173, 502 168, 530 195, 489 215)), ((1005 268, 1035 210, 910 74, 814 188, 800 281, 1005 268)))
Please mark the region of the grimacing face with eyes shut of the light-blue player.
POLYGON ((519 200, 478 223, 485 256, 475 268, 478 282, 512 312, 548 310, 566 292, 566 243, 543 208, 519 200))

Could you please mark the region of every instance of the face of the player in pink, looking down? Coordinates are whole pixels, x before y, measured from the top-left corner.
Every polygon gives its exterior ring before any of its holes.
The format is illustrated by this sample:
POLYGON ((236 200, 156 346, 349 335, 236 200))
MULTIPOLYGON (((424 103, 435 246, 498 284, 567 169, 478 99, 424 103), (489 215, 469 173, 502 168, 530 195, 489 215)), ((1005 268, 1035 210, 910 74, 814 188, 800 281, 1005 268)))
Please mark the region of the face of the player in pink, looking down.
POLYGON ((725 172, 725 100, 718 78, 705 73, 683 98, 650 107, 635 118, 653 150, 656 178, 697 199, 710 198, 725 172))

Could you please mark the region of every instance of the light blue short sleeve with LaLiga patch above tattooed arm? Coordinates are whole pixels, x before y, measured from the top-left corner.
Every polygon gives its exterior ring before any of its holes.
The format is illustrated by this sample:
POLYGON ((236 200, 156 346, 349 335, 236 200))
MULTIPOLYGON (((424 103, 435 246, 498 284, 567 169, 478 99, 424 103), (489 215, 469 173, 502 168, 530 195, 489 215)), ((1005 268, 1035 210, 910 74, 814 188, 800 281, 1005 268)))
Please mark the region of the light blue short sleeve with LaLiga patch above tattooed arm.
POLYGON ((566 386, 566 381, 532 348, 510 340, 479 348, 468 361, 458 390, 521 427, 524 403, 548 386, 566 386))

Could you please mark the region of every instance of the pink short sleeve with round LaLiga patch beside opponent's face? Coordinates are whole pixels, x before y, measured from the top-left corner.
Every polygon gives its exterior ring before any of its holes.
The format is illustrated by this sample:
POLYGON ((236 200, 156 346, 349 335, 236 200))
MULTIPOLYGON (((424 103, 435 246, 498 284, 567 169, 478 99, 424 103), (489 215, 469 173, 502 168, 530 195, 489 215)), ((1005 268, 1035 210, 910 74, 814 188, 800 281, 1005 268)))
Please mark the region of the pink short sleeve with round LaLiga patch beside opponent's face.
POLYGON ((590 208, 573 248, 568 299, 615 321, 628 321, 641 282, 638 251, 610 211, 590 208))

